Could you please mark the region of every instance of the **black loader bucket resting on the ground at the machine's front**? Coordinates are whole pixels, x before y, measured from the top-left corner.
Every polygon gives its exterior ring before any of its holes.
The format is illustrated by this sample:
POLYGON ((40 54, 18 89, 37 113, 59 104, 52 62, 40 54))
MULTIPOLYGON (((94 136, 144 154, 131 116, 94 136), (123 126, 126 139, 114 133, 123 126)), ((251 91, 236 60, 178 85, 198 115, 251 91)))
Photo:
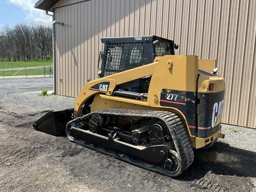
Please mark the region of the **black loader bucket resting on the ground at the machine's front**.
POLYGON ((33 127, 50 135, 64 133, 66 124, 71 120, 72 112, 74 112, 74 108, 48 112, 34 122, 33 127))

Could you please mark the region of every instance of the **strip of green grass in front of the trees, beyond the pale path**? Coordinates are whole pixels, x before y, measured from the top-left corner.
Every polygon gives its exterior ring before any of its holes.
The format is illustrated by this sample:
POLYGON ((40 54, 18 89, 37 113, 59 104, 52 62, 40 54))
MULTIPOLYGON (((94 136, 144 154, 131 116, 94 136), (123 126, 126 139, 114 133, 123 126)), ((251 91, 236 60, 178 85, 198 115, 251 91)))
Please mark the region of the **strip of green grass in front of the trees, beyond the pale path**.
POLYGON ((13 67, 25 67, 25 66, 46 66, 53 65, 52 61, 19 61, 19 62, 0 62, 0 70, 4 67, 13 68, 13 67))

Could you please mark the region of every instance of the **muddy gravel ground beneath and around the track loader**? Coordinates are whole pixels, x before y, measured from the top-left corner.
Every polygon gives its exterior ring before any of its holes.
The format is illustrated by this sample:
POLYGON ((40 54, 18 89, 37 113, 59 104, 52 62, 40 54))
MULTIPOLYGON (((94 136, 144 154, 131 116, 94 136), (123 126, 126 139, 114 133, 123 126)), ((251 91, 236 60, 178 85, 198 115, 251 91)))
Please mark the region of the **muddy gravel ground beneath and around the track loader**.
POLYGON ((39 96, 43 89, 53 90, 52 79, 0 80, 0 191, 256 191, 255 130, 224 126, 226 138, 195 150, 192 166, 173 179, 34 130, 47 111, 74 103, 39 96))

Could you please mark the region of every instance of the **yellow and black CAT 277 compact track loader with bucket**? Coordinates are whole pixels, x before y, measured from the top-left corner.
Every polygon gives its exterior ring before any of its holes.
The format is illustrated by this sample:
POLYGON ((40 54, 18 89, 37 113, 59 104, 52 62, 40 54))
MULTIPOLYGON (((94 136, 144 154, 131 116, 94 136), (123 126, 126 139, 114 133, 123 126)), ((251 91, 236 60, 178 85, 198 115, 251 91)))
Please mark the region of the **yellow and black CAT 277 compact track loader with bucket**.
POLYGON ((193 148, 224 138, 225 82, 214 60, 174 55, 178 46, 157 36, 101 41, 99 78, 88 80, 74 109, 49 112, 34 128, 66 127, 73 142, 171 177, 192 164, 193 148))

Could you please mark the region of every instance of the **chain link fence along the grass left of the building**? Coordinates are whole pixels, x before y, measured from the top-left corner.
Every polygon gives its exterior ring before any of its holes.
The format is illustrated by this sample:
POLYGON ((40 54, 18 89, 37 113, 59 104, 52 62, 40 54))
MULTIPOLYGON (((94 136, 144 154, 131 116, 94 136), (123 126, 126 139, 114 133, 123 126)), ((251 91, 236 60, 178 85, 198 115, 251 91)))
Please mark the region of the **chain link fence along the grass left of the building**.
POLYGON ((0 78, 53 77, 53 66, 2 66, 0 78))

